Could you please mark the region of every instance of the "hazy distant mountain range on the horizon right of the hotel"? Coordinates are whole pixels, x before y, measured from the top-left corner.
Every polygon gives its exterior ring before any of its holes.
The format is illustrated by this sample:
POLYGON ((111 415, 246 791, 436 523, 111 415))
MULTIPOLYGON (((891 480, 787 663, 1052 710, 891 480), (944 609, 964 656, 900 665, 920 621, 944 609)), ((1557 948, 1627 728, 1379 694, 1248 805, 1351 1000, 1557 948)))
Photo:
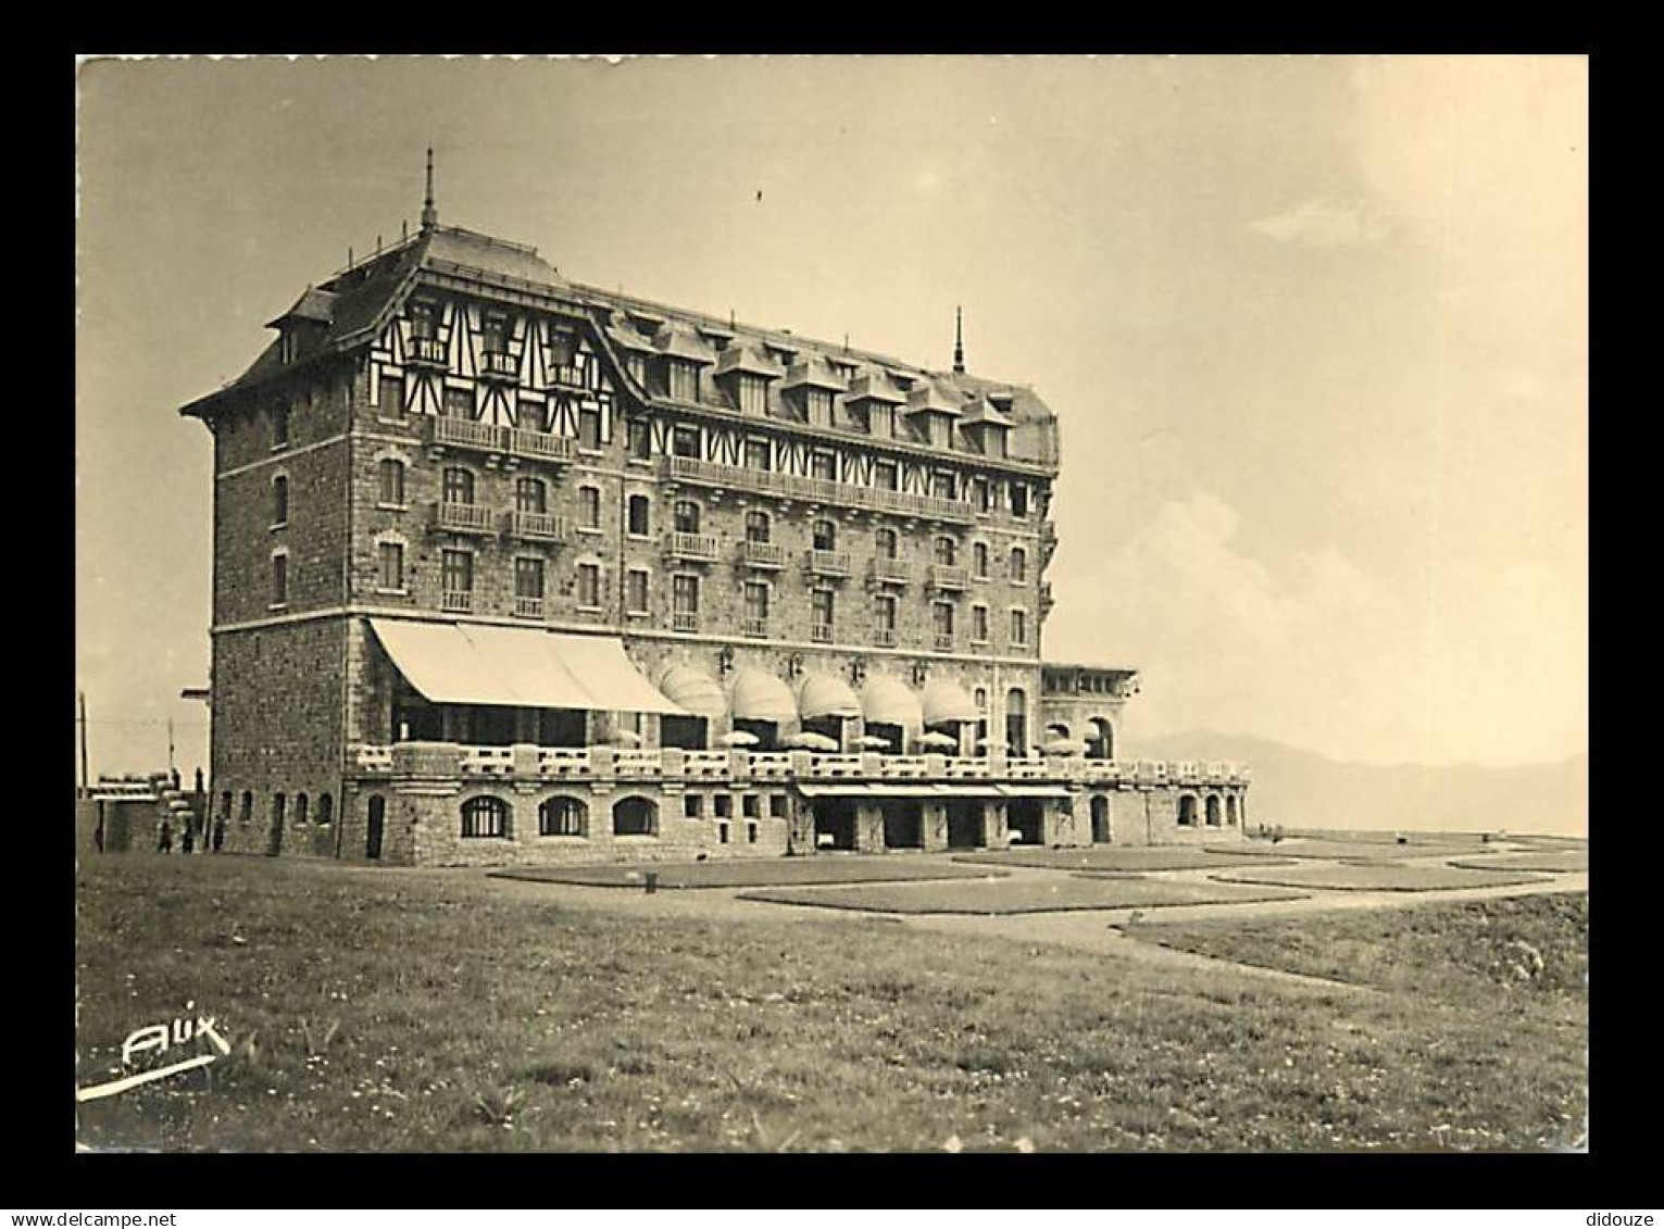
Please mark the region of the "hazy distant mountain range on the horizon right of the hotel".
POLYGON ((1353 763, 1268 738, 1186 730, 1130 740, 1117 758, 1241 760, 1253 768, 1250 823, 1286 828, 1589 830, 1589 757, 1511 768, 1353 763))

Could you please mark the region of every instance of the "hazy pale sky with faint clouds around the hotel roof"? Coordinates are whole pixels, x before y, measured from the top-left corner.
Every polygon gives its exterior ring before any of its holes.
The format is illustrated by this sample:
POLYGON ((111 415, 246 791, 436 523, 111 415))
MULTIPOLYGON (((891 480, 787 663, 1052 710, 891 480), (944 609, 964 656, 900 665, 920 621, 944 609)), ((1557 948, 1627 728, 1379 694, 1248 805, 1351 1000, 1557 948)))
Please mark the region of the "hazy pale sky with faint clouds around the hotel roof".
POLYGON ((1587 747, 1587 60, 92 60, 77 645, 93 772, 188 773, 211 447, 186 401, 441 221, 562 274, 1030 384, 1050 660, 1123 745, 1587 747))

